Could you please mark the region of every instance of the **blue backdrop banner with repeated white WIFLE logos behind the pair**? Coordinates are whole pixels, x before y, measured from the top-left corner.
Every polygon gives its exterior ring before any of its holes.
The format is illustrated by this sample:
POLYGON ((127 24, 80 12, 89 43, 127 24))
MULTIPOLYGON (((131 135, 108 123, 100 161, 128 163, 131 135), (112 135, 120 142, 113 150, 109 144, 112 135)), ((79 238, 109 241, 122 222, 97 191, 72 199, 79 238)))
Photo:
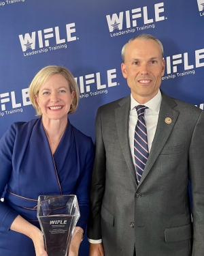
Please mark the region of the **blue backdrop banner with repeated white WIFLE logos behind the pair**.
POLYGON ((120 51, 139 33, 163 42, 161 88, 203 109, 203 31, 204 0, 0 0, 0 138, 13 122, 36 118, 29 84, 44 66, 58 65, 80 87, 69 119, 94 140, 97 108, 130 93, 120 51))

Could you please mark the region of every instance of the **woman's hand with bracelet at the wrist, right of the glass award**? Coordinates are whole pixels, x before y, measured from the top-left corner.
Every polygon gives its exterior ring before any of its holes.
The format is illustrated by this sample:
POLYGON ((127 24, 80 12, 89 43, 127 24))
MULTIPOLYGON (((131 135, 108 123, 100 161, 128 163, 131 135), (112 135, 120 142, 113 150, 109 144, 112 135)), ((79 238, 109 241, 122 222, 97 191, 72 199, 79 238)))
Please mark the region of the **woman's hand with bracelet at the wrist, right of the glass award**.
POLYGON ((75 227, 75 231, 73 231, 73 236, 71 238, 69 256, 78 256, 80 244, 82 242, 82 234, 76 230, 84 233, 84 230, 81 227, 75 227))

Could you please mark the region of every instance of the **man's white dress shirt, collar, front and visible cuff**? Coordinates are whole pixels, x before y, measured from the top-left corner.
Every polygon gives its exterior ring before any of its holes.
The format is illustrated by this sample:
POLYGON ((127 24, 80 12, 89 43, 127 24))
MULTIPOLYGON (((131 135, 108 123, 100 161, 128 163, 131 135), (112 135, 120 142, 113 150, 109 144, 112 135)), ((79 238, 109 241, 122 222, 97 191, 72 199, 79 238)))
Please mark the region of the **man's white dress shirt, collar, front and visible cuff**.
MULTIPOLYGON (((160 102, 162 100, 162 96, 160 90, 154 98, 150 101, 143 104, 144 106, 148 106, 148 109, 145 110, 144 119, 146 120, 147 126, 147 133, 148 133, 148 151, 150 153, 152 147, 152 141, 154 139, 154 134, 156 132, 156 126, 158 122, 158 113, 160 110, 160 102)), ((137 124, 137 111, 135 106, 138 106, 139 102, 137 102, 132 94, 131 94, 131 110, 129 114, 129 143, 131 148, 131 154, 133 157, 133 162, 135 164, 135 157, 134 157, 134 136, 135 136, 135 126, 137 124)), ((102 239, 99 240, 92 240, 88 238, 88 242, 91 244, 99 244, 102 242, 102 239)))

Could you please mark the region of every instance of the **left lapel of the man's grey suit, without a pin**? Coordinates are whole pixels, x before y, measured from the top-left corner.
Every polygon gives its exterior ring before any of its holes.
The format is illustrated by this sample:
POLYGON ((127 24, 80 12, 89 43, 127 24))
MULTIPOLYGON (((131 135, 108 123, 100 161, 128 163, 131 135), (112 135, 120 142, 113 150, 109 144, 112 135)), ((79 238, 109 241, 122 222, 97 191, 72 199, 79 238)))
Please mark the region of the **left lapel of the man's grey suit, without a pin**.
POLYGON ((129 145, 129 113, 131 109, 131 97, 128 96, 123 98, 118 104, 118 109, 115 110, 118 139, 120 142, 120 147, 122 148, 124 159, 126 160, 126 165, 131 172, 135 184, 137 185, 135 166, 133 164, 133 158, 129 145))

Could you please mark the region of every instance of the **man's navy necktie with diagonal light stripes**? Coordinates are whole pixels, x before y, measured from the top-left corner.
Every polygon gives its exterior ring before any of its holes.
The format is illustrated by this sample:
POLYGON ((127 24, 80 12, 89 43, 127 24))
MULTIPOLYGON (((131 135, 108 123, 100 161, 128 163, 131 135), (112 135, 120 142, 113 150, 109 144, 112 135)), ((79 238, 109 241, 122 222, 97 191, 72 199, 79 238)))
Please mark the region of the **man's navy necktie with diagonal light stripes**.
POLYGON ((135 107, 135 109, 137 111, 138 119, 135 126, 134 155, 137 182, 139 183, 149 156, 147 128, 145 119, 143 117, 145 109, 148 109, 148 107, 138 105, 137 107, 135 107))

